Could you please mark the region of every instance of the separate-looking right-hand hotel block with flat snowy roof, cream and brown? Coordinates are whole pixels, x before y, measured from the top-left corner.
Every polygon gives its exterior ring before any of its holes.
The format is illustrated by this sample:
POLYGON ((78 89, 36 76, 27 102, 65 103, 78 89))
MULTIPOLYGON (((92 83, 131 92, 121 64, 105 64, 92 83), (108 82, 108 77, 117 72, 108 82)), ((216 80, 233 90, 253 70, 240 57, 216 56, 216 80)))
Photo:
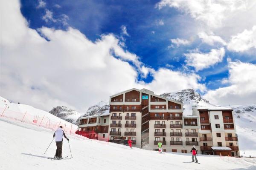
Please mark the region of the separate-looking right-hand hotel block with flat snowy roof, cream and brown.
POLYGON ((200 118, 200 148, 203 154, 239 156, 233 109, 198 107, 193 115, 200 118))

